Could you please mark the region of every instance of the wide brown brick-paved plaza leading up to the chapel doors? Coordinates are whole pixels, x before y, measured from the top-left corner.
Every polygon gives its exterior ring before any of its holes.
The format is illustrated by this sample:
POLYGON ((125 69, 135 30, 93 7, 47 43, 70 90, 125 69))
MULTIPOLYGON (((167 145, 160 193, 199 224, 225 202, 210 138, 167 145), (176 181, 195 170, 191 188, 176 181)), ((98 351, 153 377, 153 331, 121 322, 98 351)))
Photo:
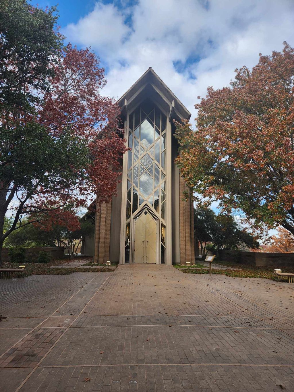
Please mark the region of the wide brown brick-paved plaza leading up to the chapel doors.
POLYGON ((0 281, 0 391, 294 391, 293 301, 165 265, 0 281))

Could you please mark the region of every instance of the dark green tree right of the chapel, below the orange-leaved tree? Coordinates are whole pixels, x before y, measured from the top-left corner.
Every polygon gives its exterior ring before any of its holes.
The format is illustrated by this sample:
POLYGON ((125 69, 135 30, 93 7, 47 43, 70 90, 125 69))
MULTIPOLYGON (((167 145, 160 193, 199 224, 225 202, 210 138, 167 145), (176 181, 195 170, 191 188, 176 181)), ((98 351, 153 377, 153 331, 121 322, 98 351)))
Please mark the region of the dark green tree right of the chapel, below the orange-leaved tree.
POLYGON ((194 208, 194 230, 200 241, 202 258, 212 249, 259 247, 258 241, 246 229, 241 229, 233 216, 216 215, 210 208, 200 204, 194 208))

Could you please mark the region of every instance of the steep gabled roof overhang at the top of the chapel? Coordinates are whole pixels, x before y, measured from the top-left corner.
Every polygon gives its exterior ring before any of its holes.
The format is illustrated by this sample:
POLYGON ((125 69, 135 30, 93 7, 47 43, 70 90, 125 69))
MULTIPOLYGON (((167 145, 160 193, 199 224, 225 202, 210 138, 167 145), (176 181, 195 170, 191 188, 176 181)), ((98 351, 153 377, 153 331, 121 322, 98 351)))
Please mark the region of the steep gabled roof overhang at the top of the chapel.
POLYGON ((174 116, 180 119, 187 119, 191 117, 189 110, 181 103, 181 101, 172 93, 167 85, 160 79, 151 67, 147 69, 145 73, 124 93, 121 98, 117 101, 121 110, 124 111, 125 103, 129 105, 129 102, 138 95, 144 89, 152 87, 158 93, 161 98, 169 105, 170 113, 174 113, 174 116))

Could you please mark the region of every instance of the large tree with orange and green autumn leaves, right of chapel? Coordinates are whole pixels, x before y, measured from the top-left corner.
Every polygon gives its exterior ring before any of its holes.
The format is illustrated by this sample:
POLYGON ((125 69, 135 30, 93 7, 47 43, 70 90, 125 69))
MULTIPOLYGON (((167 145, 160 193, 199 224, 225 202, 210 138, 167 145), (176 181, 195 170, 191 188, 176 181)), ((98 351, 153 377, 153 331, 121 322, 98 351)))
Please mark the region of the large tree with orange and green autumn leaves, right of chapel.
POLYGON ((186 183, 206 205, 242 210, 260 232, 281 225, 294 234, 293 82, 294 49, 284 43, 252 71, 236 69, 230 87, 207 89, 196 132, 177 123, 186 183))

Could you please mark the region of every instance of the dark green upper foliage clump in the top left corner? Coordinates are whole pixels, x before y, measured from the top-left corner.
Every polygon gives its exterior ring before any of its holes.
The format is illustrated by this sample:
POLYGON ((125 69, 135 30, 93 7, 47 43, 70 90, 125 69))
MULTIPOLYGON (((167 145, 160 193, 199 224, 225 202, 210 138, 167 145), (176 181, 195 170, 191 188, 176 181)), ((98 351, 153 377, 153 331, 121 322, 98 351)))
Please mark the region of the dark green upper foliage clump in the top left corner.
MULTIPOLYGON (((2 116, 20 119, 39 102, 33 93, 45 93, 48 77, 62 47, 56 31, 56 7, 46 11, 26 0, 0 3, 0 102, 2 116)), ((6 118, 6 121, 8 118, 6 118)))

